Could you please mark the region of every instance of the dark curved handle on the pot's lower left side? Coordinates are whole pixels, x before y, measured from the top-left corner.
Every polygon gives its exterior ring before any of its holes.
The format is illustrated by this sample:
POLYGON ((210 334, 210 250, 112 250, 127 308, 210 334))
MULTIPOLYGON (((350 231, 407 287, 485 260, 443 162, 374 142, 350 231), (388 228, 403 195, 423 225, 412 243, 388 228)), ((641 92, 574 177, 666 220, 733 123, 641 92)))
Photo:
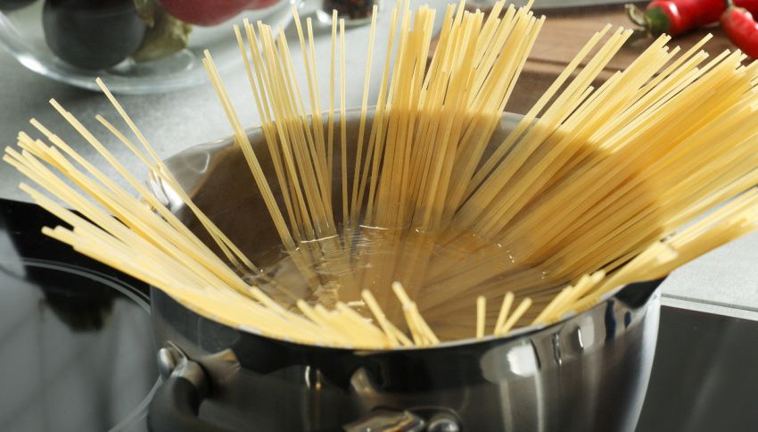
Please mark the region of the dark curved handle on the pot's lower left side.
MULTIPOLYGON (((164 350, 159 352, 159 359, 170 357, 164 350)), ((180 356, 172 369, 152 396, 147 413, 150 431, 227 432, 197 417, 200 403, 208 395, 208 380, 200 365, 180 356)))

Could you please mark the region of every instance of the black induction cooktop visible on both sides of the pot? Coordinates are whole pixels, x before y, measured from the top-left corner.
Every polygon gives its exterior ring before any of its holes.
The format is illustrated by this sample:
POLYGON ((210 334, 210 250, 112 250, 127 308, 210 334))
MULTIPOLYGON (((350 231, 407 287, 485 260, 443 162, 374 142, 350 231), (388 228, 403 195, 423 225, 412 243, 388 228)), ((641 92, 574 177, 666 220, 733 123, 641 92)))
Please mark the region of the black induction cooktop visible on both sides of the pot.
MULTIPOLYGON (((147 430, 147 286, 39 232, 59 223, 0 199, 0 430, 147 430)), ((758 430, 758 322, 663 307, 637 430, 758 430)))

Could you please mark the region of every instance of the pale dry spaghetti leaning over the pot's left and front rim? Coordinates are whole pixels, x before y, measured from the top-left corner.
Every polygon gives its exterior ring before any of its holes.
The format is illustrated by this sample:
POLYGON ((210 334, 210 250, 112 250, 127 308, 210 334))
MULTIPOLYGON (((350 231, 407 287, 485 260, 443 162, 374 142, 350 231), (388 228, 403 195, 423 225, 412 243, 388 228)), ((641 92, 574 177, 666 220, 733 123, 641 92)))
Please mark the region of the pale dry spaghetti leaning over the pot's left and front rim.
MULTIPOLYGON (((127 123, 133 125, 103 83, 99 83, 127 123)), ((194 311, 235 328, 317 345, 384 348, 414 344, 395 326, 387 324, 390 333, 384 333, 383 329, 371 324, 344 303, 336 303, 334 311, 327 312, 320 305, 313 308, 298 299, 303 316, 286 311, 259 288, 249 287, 237 272, 203 245, 198 237, 180 222, 177 223, 176 217, 161 201, 125 170, 121 162, 112 157, 73 115, 54 100, 51 100, 51 104, 128 180, 139 196, 133 196, 119 187, 60 137, 36 120, 31 120, 32 125, 53 145, 46 145, 43 140, 34 140, 21 132, 18 143, 21 152, 7 147, 4 161, 45 187, 63 204, 78 211, 71 212, 37 189, 21 184, 21 189, 37 204, 72 227, 44 228, 46 235, 74 246, 79 253, 159 287, 194 311)), ((111 131, 117 130, 103 117, 98 119, 103 124, 108 124, 111 131)), ((141 161, 148 166, 152 165, 128 138, 120 132, 118 136, 124 138, 124 143, 141 161)), ((138 129, 136 136, 144 139, 138 129)), ((149 153, 153 153, 146 140, 143 144, 149 153)), ((164 170, 156 170, 156 174, 162 180, 177 185, 176 180, 163 168, 164 170)), ((186 196, 184 191, 182 195, 186 196)), ((191 203, 188 197, 185 201, 191 203)), ((193 209, 201 220, 208 220, 196 206, 193 209)), ((210 223, 206 228, 211 234, 223 237, 216 231, 218 228, 210 223)), ((229 246, 238 250, 231 242, 229 246)), ((396 289, 402 293, 401 287, 396 289)), ((400 298, 406 299, 407 296, 400 298)), ((377 316, 383 316, 381 309, 373 310, 377 316)), ((409 319, 423 322, 417 312, 416 315, 411 314, 409 319)), ((424 331, 426 335, 432 334, 428 328, 424 331)), ((439 343, 433 336, 426 336, 424 341, 439 343)))

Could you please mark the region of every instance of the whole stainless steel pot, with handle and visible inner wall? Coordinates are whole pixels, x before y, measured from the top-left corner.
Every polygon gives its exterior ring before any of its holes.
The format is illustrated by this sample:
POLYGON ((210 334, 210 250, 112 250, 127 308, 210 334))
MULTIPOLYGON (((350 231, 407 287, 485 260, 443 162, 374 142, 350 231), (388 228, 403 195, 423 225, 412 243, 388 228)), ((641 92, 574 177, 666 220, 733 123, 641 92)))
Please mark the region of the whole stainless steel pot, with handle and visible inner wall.
MULTIPOLYGON (((348 115, 355 135, 358 112, 348 115)), ((506 114, 492 142, 517 119, 506 114)), ((249 135, 256 147, 265 145, 260 129, 249 135)), ((264 167, 265 154, 260 152, 264 167)), ((168 163, 243 252, 276 245, 231 139, 193 147, 168 163)), ((170 190, 160 182, 153 188, 190 227, 197 226, 170 190)), ((659 282, 624 287, 547 328, 391 351, 271 339, 202 317, 153 289, 152 320, 166 381, 149 423, 156 431, 632 431, 655 353, 659 282)))

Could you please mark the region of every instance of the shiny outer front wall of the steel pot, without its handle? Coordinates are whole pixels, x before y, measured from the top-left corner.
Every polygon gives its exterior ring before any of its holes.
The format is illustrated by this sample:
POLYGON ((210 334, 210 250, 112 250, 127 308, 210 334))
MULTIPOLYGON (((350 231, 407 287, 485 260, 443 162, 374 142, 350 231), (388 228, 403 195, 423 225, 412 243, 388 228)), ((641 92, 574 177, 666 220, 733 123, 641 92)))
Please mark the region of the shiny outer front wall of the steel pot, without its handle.
POLYGON ((235 430, 331 430, 376 409, 431 408, 470 431, 632 431, 655 352, 656 285, 521 336, 387 352, 254 335, 157 290, 152 317, 156 340, 210 378, 202 416, 235 430))

